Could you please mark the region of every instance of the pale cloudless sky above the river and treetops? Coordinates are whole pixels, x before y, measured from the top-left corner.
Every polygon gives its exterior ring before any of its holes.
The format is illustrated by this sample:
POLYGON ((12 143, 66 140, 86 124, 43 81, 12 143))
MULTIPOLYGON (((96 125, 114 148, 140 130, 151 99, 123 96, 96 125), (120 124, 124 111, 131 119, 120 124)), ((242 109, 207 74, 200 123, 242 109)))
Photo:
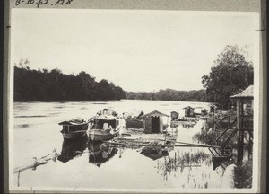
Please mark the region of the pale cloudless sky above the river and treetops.
POLYGON ((226 45, 259 57, 258 13, 13 9, 11 20, 12 64, 85 71, 126 91, 203 89, 226 45))

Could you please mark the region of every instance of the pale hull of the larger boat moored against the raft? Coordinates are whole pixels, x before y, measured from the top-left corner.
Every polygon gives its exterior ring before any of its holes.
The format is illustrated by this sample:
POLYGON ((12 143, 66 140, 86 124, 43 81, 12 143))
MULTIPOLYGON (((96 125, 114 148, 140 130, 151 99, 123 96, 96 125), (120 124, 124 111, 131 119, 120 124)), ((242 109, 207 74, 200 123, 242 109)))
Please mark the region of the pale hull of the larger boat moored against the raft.
POLYGON ((100 129, 91 129, 87 131, 87 136, 91 141, 108 141, 117 136, 117 133, 111 134, 109 131, 100 129))

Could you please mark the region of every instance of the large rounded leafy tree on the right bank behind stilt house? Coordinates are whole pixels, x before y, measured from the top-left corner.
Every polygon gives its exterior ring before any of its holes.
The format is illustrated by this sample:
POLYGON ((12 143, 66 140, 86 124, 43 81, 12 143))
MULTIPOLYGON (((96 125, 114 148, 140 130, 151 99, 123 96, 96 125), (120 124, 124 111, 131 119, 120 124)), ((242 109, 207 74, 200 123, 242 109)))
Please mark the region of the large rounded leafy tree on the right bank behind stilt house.
POLYGON ((238 46, 226 46, 214 61, 209 75, 202 83, 211 101, 226 106, 230 95, 253 84, 253 64, 248 61, 238 46))

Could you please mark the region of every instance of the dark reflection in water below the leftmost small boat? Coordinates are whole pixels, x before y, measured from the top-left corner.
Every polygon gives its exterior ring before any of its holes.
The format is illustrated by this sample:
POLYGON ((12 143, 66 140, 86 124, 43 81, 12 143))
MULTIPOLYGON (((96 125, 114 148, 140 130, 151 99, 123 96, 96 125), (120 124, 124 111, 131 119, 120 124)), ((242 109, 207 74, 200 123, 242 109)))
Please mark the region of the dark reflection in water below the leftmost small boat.
POLYGON ((78 139, 64 139, 61 155, 58 156, 58 161, 66 163, 74 157, 79 157, 87 147, 87 137, 78 139))

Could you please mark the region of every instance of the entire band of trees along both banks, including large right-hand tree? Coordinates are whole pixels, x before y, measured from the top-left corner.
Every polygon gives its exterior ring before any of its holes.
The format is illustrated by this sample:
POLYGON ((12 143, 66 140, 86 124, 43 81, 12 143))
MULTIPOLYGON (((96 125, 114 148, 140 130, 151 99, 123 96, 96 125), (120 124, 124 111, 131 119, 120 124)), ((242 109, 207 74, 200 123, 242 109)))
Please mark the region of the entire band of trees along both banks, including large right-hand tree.
POLYGON ((65 75, 59 69, 30 69, 29 60, 14 66, 14 101, 214 101, 227 110, 230 95, 241 92, 253 84, 253 65, 238 46, 227 46, 214 61, 209 75, 202 77, 204 89, 158 92, 127 92, 120 86, 82 71, 78 75, 65 75))

